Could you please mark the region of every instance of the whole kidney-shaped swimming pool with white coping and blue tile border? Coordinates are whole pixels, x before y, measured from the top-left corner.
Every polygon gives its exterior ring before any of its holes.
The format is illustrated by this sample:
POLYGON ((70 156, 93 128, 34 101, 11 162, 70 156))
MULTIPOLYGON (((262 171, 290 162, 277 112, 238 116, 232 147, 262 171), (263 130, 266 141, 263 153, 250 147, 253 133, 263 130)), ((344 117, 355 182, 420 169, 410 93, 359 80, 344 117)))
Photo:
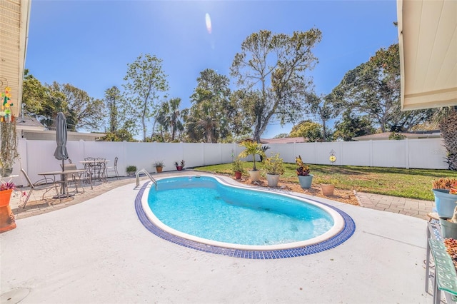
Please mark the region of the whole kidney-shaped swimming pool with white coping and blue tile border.
POLYGON ((243 258, 316 253, 343 243, 355 229, 332 206, 227 182, 213 176, 160 179, 157 191, 147 184, 141 188, 136 211, 161 238, 243 258))

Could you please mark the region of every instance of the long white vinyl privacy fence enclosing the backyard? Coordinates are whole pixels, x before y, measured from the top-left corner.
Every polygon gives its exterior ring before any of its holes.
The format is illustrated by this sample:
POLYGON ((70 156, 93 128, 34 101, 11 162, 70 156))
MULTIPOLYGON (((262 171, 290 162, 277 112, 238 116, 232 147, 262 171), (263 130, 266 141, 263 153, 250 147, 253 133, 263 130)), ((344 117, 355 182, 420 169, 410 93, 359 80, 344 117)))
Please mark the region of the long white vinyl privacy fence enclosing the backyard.
MULTIPOLYGON (((294 163, 301 155, 310 164, 330 164, 331 153, 336 156, 335 165, 376 166, 395 168, 447 169, 446 149, 441 138, 405 139, 401 141, 353 141, 332 143, 285 143, 267 144, 271 153, 280 153, 286 163, 294 163)), ((118 171, 126 175, 130 165, 155 172, 154 161, 164 161, 164 171, 174 171, 174 162, 186 161, 186 167, 230 163, 232 156, 243 150, 237 143, 129 143, 106 141, 68 141, 69 158, 82 168, 79 161, 86 157, 103 157, 114 165, 119 157, 118 171)), ((54 158, 56 141, 19 140, 20 161, 14 166, 13 174, 19 175, 13 181, 26 185, 20 169, 24 168, 32 181, 39 179, 37 173, 61 170, 61 161, 54 158)), ((257 158, 258 159, 258 158, 257 158)), ((251 157, 246 158, 252 161, 251 157)))

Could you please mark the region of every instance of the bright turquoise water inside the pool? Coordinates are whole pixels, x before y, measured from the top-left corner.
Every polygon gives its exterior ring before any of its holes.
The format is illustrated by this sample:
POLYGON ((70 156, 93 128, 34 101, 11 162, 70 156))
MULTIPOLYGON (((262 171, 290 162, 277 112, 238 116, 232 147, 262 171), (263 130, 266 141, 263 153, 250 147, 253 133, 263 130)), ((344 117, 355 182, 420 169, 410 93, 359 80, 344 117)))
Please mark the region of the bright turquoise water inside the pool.
POLYGON ((315 238, 333 226, 317 206, 276 193, 226 186, 215 178, 157 182, 148 203, 166 226, 199 238, 243 245, 277 245, 315 238))

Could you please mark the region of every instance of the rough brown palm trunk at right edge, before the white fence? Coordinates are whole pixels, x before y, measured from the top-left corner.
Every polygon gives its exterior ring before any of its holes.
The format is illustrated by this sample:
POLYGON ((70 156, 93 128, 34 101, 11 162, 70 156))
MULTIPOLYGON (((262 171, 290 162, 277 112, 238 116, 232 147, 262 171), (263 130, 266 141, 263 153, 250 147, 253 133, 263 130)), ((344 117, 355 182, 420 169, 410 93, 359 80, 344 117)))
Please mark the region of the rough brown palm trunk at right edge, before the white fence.
POLYGON ((438 123, 444 147, 448 151, 448 169, 457 171, 457 106, 440 108, 433 118, 438 123))

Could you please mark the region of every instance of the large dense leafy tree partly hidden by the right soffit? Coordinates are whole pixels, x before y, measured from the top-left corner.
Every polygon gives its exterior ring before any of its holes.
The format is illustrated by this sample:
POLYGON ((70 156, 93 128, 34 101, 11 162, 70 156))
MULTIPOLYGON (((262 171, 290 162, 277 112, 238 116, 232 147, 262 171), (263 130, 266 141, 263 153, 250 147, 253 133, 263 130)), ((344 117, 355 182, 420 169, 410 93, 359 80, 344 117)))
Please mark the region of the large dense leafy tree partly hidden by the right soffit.
POLYGON ((366 113, 381 131, 401 128, 408 131, 426 121, 430 110, 401 111, 400 56, 398 44, 379 49, 375 56, 348 71, 333 89, 333 98, 359 113, 366 113))

